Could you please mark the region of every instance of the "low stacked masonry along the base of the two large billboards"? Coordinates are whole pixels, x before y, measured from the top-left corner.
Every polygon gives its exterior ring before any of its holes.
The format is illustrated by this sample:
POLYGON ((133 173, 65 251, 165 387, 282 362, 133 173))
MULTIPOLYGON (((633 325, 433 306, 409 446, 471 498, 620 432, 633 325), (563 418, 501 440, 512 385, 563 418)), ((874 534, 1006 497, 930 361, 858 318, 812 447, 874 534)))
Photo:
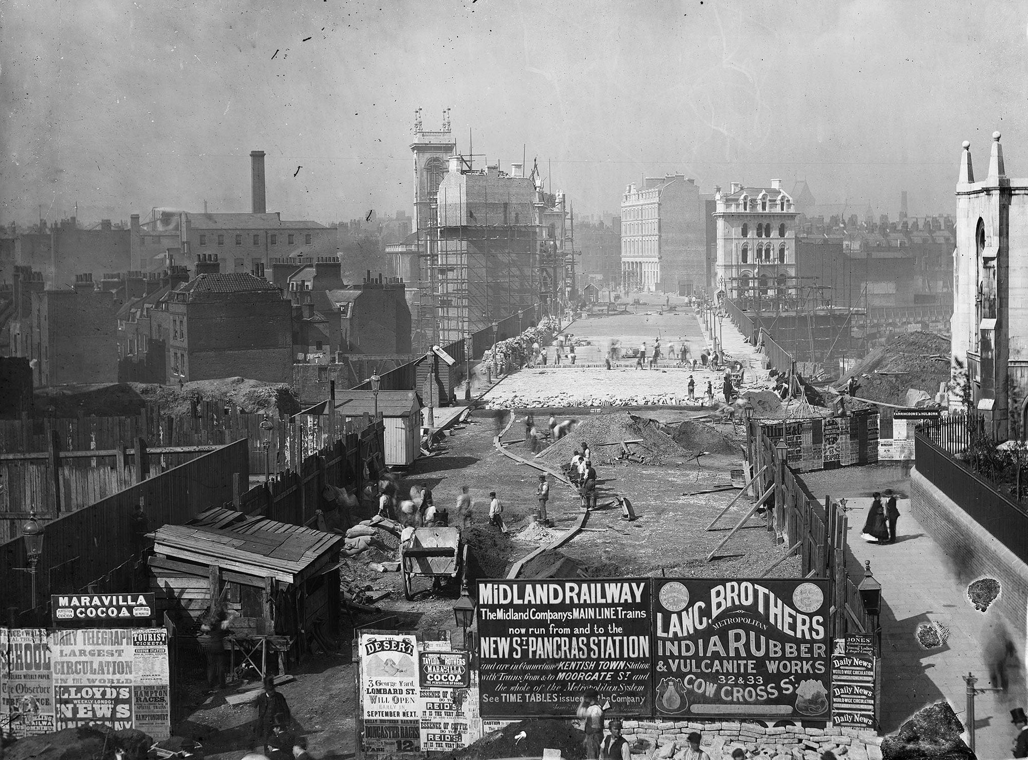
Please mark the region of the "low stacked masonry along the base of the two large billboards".
MULTIPOLYGON (((724 722, 691 723, 687 721, 624 722, 624 737, 631 744, 642 739, 648 757, 672 757, 688 748, 686 737, 697 731, 702 734, 701 749, 710 760, 729 760, 732 751, 741 747, 747 758, 778 758, 778 760, 819 760, 831 750, 840 760, 881 760, 881 737, 874 731, 853 728, 803 728, 780 726, 765 728, 759 723, 724 722), (667 747, 675 745, 668 755, 667 747)), ((640 747, 641 747, 640 745, 640 747)), ((633 750, 633 754, 636 751, 633 750)))

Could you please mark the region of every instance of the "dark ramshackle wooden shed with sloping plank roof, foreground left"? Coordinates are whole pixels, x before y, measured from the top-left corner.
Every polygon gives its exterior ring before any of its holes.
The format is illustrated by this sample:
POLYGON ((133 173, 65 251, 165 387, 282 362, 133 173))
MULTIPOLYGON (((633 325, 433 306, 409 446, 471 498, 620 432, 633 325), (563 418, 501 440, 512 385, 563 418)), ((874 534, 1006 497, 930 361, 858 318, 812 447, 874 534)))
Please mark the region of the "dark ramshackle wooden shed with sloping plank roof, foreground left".
MULTIPOLYGON (((339 549, 344 538, 311 528, 212 508, 154 534, 150 590, 181 636, 195 636, 217 598, 234 611, 229 643, 298 659, 310 639, 339 630, 339 549)), ((252 660, 253 661, 253 660, 252 660)), ((256 662, 254 661, 254 664, 256 662)), ((259 668, 262 669, 262 668, 259 668)))

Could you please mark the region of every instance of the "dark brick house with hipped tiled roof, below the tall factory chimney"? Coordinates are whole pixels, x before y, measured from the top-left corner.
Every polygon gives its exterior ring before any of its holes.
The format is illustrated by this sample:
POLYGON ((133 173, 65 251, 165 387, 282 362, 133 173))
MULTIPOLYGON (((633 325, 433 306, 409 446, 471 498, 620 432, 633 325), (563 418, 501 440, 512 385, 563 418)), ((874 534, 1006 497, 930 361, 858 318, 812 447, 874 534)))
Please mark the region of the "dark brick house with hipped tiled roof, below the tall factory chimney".
POLYGON ((193 277, 150 311, 151 331, 168 335, 167 382, 243 376, 292 378, 292 304, 263 278, 222 273, 198 256, 193 277))

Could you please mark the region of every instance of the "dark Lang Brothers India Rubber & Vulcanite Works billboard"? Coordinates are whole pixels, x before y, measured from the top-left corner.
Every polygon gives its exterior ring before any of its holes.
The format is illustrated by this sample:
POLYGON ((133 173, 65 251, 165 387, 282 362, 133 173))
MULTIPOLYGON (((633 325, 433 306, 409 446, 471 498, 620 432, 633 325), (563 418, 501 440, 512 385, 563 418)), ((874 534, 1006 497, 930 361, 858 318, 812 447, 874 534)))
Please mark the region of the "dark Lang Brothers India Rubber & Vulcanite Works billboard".
POLYGON ((653 582, 658 717, 829 719, 827 580, 653 582))

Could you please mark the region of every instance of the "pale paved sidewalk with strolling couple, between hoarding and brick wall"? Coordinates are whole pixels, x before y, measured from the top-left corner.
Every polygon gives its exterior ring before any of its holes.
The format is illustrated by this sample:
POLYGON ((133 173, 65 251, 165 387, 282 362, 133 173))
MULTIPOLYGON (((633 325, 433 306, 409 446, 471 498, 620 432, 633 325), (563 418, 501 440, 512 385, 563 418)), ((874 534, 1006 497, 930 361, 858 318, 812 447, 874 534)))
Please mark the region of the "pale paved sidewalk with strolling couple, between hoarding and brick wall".
MULTIPOLYGON (((726 338, 727 341, 727 338, 726 338)), ((849 547, 862 568, 882 584, 882 715, 886 733, 895 731, 917 710, 940 699, 949 701, 964 720, 965 686, 961 676, 978 677, 988 687, 988 643, 998 636, 994 618, 978 612, 967 599, 967 585, 953 572, 953 563, 910 514, 910 500, 901 499, 895 544, 871 544, 860 538, 871 499, 847 498, 849 547), (849 508, 854 508, 852 511, 849 508), (946 643, 925 650, 915 632, 921 623, 949 629, 946 643)), ((857 572, 853 574, 856 577, 857 572)), ((975 701, 977 754, 982 760, 1011 756, 1014 728, 1007 704, 1014 694, 987 693, 975 701)), ((965 736, 966 738, 966 736, 965 736)))

